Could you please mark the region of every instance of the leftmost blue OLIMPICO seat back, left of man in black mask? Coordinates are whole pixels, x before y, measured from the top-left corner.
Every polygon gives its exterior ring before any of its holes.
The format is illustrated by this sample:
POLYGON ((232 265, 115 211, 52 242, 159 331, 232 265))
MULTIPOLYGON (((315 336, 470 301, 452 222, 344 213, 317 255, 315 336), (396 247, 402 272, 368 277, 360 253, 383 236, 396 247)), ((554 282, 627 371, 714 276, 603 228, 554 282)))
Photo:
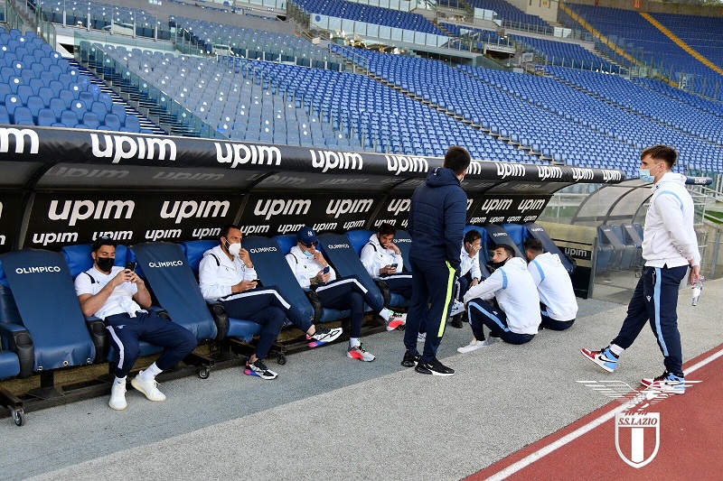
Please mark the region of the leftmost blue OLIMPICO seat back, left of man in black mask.
POLYGON ((33 370, 93 362, 95 347, 63 256, 23 249, 3 254, 2 263, 23 326, 33 338, 33 370))

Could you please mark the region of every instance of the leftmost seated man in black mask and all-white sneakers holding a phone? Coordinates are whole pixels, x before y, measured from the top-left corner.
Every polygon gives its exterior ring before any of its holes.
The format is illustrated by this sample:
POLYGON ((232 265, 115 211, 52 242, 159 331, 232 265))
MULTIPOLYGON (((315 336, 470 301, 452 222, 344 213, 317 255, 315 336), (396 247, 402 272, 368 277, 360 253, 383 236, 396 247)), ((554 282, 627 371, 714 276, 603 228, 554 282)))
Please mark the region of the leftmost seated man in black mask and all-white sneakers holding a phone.
POLYGON ((112 362, 116 378, 110 388, 108 406, 116 411, 127 408, 126 378, 140 356, 139 341, 162 346, 164 350, 155 363, 140 371, 130 383, 149 400, 165 401, 155 376, 191 354, 196 337, 187 328, 146 311, 151 305, 146 283, 131 269, 113 265, 114 240, 99 237, 93 243, 90 256, 93 266, 75 278, 75 291, 83 315, 103 319, 110 342, 116 347, 116 358, 112 362))

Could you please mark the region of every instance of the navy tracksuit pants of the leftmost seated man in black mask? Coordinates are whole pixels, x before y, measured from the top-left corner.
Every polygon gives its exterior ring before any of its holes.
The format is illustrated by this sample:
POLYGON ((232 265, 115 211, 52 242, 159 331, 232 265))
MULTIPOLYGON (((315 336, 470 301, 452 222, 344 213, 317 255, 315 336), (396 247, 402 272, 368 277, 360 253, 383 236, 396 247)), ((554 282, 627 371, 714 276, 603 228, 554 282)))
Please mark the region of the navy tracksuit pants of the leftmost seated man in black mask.
POLYGON ((162 371, 191 354, 198 342, 190 330, 159 318, 155 312, 138 311, 135 318, 124 312, 108 316, 104 322, 117 351, 113 360, 116 377, 126 377, 136 364, 141 354, 138 341, 164 347, 161 356, 155 360, 155 365, 162 371))

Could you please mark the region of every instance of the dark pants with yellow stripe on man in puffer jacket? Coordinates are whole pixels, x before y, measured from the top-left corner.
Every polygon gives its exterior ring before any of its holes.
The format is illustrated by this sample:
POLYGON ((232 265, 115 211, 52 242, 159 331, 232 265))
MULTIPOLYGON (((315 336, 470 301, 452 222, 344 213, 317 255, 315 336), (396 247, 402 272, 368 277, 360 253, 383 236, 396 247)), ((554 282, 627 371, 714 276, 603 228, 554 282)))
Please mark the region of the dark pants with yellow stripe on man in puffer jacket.
POLYGON ((412 299, 407 312, 407 328, 404 346, 411 354, 417 354, 417 334, 424 320, 424 310, 429 305, 422 361, 428 363, 437 356, 437 347, 445 334, 446 319, 455 287, 455 268, 437 260, 410 259, 412 267, 412 299))

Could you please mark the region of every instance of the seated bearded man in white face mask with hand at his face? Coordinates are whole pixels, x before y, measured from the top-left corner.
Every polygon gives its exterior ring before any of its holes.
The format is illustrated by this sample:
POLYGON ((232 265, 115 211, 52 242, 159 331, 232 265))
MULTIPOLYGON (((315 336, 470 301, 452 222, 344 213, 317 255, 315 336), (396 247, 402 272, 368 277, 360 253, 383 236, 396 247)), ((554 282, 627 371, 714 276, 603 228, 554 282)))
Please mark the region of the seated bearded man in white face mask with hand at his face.
POLYGON ((277 373, 268 369, 264 358, 286 319, 305 332, 309 347, 322 346, 339 338, 342 328, 317 328, 286 302, 275 286, 261 287, 249 251, 241 247, 241 240, 238 226, 221 228, 221 243, 203 253, 198 271, 199 286, 203 298, 220 302, 230 318, 252 320, 262 326, 256 352, 247 359, 244 374, 275 379, 277 373))

